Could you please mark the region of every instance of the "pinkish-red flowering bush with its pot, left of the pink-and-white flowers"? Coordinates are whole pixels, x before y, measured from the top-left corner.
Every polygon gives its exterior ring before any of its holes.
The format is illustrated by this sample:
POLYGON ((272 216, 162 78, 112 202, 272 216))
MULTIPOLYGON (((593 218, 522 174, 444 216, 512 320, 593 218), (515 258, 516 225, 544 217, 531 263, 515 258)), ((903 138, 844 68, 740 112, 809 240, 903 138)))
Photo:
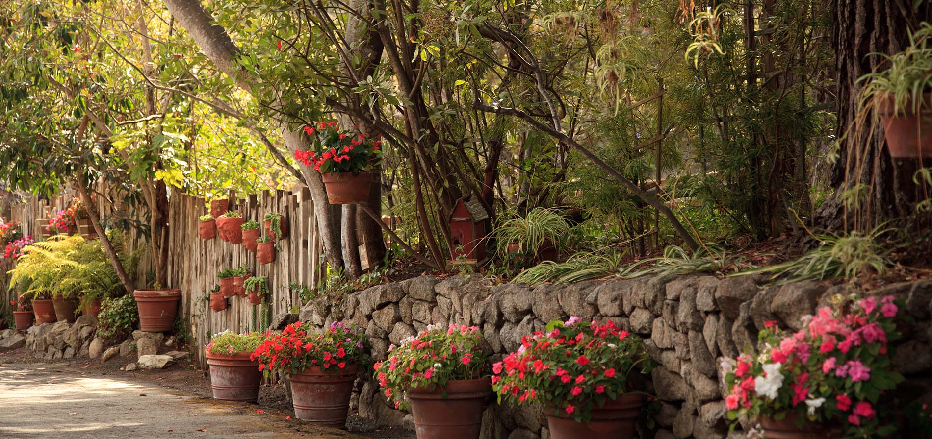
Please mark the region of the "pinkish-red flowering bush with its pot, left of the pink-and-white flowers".
POLYGON ((518 352, 492 366, 492 388, 519 405, 540 402, 554 439, 625 439, 644 404, 631 378, 652 368, 641 339, 611 321, 570 317, 523 337, 518 352))

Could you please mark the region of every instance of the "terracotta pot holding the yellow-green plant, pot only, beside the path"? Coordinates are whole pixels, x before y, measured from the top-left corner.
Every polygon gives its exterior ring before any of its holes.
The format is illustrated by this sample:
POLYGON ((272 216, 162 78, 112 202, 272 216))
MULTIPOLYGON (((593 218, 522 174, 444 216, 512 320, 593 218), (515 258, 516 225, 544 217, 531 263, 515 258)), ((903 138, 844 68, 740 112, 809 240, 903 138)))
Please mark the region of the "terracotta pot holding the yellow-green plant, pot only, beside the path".
POLYGON ((211 368, 213 399, 254 403, 259 399, 262 372, 259 362, 249 359, 250 353, 232 356, 207 353, 207 366, 211 368))

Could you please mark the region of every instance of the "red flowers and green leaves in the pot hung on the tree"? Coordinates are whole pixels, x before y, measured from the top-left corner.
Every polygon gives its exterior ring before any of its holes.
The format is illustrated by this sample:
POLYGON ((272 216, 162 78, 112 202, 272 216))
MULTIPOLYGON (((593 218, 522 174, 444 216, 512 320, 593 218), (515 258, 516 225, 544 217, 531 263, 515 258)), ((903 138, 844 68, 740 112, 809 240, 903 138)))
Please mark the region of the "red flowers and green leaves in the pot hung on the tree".
POLYGON ((358 174, 369 165, 370 157, 377 158, 381 153, 381 140, 372 140, 359 129, 340 130, 336 122, 318 122, 316 126, 305 126, 304 132, 312 138, 314 148, 295 151, 295 160, 304 166, 314 166, 321 173, 358 174))

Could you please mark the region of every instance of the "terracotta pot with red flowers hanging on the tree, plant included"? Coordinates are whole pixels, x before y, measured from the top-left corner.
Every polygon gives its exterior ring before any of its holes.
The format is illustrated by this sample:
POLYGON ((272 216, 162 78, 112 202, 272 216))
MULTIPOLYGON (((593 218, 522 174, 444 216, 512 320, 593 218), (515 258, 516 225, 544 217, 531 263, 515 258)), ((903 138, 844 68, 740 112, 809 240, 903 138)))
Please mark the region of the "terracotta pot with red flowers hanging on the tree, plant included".
POLYGON ((312 149, 295 151, 295 160, 321 173, 330 204, 363 202, 373 181, 366 170, 381 158, 381 140, 358 129, 341 130, 336 122, 318 122, 304 130, 312 149))

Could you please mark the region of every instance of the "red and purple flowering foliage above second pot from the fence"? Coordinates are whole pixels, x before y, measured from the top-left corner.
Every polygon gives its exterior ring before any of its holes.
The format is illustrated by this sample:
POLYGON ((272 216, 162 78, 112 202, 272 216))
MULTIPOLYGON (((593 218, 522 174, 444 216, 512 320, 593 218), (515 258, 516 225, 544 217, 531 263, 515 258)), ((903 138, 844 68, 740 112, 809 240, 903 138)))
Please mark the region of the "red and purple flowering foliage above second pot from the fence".
POLYGON ((266 333, 266 339, 250 356, 259 370, 294 375, 308 367, 337 370, 363 363, 367 358, 365 336, 355 326, 335 323, 325 331, 313 331, 308 323, 285 326, 281 334, 266 333))

